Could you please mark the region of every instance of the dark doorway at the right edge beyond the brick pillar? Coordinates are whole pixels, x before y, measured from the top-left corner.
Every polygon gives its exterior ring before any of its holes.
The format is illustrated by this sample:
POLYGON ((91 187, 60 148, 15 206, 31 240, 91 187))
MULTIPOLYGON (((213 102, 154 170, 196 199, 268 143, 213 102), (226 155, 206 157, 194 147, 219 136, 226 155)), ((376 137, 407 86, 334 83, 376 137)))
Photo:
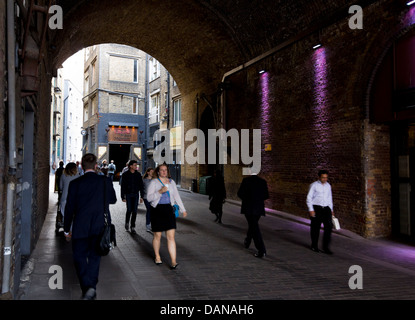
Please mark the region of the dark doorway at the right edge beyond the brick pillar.
POLYGON ((392 128, 392 230, 415 238, 415 123, 392 128))

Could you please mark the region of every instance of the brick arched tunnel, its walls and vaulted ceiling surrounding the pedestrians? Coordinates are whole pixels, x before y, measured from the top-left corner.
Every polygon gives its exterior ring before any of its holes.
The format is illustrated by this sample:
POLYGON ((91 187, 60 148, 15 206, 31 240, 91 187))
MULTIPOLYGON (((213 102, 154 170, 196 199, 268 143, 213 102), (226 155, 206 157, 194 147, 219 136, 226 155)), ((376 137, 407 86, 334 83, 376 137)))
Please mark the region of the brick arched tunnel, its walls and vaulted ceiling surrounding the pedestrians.
MULTIPOLYGON (((51 79, 71 55, 103 43, 143 50, 168 69, 182 94, 184 132, 261 130, 258 148, 252 136, 238 143, 259 156, 269 213, 307 218, 308 187, 327 169, 343 228, 413 240, 402 224, 415 230, 414 210, 399 205, 410 198, 403 186, 412 173, 400 166, 412 165, 404 150, 415 120, 415 13, 407 2, 0 3, 0 244, 10 250, 0 260, 8 271, 4 292, 16 292, 20 259, 35 248, 49 206, 51 79), (61 11, 49 11, 52 5, 61 11), (352 5, 362 10, 361 27, 352 5), (62 28, 51 28, 51 18, 62 28)), ((252 163, 230 155, 222 168, 228 199, 238 201, 242 169, 252 163)), ((184 162, 182 187, 214 167, 184 162)))

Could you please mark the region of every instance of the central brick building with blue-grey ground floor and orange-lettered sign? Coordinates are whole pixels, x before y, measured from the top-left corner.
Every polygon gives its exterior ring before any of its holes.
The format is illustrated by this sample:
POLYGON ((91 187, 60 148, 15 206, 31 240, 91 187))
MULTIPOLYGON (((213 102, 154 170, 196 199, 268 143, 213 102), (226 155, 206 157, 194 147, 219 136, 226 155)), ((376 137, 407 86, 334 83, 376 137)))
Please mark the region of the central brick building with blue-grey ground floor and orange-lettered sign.
POLYGON ((125 45, 85 50, 83 154, 114 160, 115 179, 129 160, 143 169, 145 141, 145 53, 125 45))

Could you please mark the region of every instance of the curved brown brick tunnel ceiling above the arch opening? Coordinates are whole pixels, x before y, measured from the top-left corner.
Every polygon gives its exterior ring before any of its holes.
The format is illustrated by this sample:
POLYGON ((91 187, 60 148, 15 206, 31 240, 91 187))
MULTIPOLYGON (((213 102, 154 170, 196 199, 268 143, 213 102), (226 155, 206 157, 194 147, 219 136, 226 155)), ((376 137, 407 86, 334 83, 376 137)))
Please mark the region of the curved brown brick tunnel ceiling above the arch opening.
POLYGON ((353 1, 61 0, 63 29, 50 31, 52 67, 78 50, 120 43, 156 57, 183 93, 218 84, 234 67, 353 1))

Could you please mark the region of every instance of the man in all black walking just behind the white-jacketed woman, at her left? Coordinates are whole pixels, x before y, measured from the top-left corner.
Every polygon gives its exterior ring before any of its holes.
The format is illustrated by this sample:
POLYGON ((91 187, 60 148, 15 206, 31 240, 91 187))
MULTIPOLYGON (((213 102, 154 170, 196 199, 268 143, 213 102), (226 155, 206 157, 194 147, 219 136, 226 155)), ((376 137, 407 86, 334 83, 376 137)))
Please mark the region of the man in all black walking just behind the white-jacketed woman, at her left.
POLYGON ((137 218, 137 206, 139 193, 141 195, 140 203, 144 197, 144 183, 141 173, 137 171, 137 161, 128 162, 128 170, 122 174, 121 181, 121 199, 127 204, 125 216, 125 230, 128 231, 131 222, 131 233, 135 234, 135 221, 137 218), (131 220, 131 221, 130 221, 131 220))

